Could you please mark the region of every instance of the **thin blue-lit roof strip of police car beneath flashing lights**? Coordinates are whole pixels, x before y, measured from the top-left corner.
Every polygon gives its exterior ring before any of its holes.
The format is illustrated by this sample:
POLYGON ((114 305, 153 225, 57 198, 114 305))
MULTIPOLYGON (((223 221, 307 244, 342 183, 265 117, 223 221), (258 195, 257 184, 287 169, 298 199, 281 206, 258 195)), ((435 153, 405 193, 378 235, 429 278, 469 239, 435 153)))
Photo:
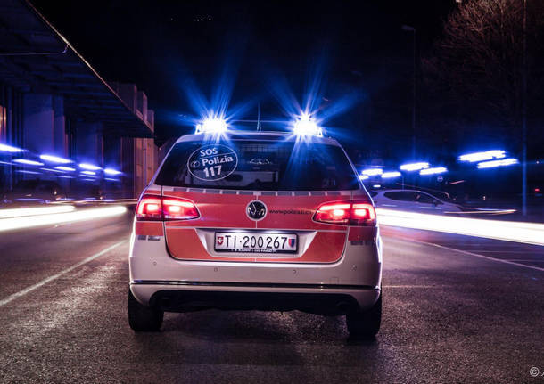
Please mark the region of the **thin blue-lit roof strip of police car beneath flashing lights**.
MULTIPOLYGON (((299 136, 293 135, 292 132, 282 132, 282 131, 242 131, 242 130, 232 130, 227 131, 225 134, 222 134, 222 137, 225 137, 227 140, 265 140, 265 141, 284 141, 284 142, 295 142, 299 139, 299 136)), ((334 138, 332 137, 321 137, 321 136, 308 136, 311 138, 312 143, 326 143, 330 145, 340 146, 334 138)), ((183 135, 179 137, 176 143, 182 142, 193 142, 193 141, 204 141, 209 140, 210 135, 206 134, 193 134, 193 135, 183 135)))

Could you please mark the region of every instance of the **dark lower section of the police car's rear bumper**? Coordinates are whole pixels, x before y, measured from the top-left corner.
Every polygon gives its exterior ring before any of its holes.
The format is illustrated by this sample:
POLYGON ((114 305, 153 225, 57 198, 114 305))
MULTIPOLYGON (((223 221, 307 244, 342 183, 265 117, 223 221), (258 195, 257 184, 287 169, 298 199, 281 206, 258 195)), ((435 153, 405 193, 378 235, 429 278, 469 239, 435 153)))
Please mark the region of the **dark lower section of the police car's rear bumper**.
POLYGON ((379 287, 339 284, 136 281, 130 289, 145 306, 167 312, 218 308, 343 315, 373 306, 380 296, 379 287))

